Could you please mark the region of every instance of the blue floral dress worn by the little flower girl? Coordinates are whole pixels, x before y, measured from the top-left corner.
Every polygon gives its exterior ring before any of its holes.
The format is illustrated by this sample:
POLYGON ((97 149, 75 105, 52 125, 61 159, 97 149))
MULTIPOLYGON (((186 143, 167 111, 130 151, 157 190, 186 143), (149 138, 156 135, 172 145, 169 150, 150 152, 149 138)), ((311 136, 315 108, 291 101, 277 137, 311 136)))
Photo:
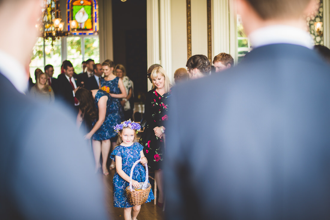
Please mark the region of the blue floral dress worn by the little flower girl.
MULTIPOLYGON (((132 146, 124 147, 117 146, 110 155, 110 158, 114 161, 116 156, 121 157, 122 170, 129 176, 133 163, 140 159, 143 147, 141 144, 135 142, 132 146)), ((142 163, 138 163, 133 171, 132 179, 138 182, 144 182, 146 180, 146 170, 142 163)), ((148 180, 149 183, 149 180, 148 180)), ((114 207, 119 208, 129 208, 132 207, 128 200, 126 199, 126 187, 129 186, 129 182, 126 182, 123 178, 119 176, 116 172, 113 178, 113 191, 114 191, 114 207)), ((150 202, 154 199, 152 190, 150 190, 148 199, 146 202, 150 202)))

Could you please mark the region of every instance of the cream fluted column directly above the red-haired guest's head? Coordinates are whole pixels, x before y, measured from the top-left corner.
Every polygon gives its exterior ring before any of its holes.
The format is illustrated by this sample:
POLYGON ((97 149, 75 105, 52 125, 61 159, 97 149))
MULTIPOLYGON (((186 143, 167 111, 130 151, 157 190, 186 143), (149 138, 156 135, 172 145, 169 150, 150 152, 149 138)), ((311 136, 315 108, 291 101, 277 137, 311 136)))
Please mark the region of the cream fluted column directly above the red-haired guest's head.
POLYGON ((212 61, 219 53, 229 53, 229 3, 212 0, 212 61))

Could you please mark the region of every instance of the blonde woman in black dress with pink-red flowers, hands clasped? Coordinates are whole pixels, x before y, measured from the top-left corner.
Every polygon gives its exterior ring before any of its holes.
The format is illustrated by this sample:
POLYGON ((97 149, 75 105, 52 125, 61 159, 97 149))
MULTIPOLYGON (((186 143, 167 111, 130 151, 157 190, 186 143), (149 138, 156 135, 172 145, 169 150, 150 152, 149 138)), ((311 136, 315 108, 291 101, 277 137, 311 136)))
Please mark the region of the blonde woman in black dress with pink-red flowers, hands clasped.
POLYGON ((168 118, 171 84, 165 70, 159 66, 150 75, 153 83, 146 96, 144 118, 147 123, 140 138, 140 144, 148 159, 150 170, 155 171, 155 180, 159 189, 158 206, 163 206, 162 161, 165 154, 164 133, 165 121, 168 118))

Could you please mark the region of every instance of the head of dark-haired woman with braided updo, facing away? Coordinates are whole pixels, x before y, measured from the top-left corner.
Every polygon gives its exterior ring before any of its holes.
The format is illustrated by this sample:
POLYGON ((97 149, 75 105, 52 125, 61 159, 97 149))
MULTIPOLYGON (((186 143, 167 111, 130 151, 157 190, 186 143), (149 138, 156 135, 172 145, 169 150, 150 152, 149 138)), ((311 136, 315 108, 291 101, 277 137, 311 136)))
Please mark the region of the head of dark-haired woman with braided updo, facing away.
POLYGON ((190 79, 198 79, 210 75, 211 64, 209 59, 202 54, 190 57, 186 64, 190 79))

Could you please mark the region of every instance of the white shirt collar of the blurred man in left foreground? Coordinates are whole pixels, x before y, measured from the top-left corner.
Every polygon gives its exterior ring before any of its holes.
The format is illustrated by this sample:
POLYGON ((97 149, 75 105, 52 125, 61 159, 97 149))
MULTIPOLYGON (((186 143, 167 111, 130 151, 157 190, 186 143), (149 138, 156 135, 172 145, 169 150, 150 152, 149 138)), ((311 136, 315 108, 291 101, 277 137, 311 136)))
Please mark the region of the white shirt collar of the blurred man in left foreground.
POLYGON ((0 72, 15 86, 20 93, 27 91, 26 71, 14 57, 0 50, 0 72))

